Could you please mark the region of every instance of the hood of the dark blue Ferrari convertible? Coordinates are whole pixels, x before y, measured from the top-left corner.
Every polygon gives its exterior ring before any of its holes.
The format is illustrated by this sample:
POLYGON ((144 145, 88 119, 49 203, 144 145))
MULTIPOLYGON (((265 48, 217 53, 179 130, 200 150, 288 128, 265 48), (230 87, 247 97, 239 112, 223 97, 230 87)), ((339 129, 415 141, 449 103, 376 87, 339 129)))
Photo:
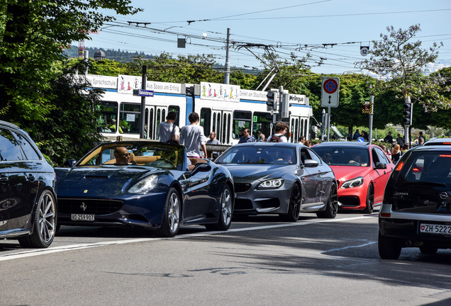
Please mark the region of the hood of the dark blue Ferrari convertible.
POLYGON ((130 181, 143 174, 152 174, 160 169, 143 166, 77 166, 67 171, 55 169, 58 196, 67 190, 96 188, 97 190, 121 191, 130 181))

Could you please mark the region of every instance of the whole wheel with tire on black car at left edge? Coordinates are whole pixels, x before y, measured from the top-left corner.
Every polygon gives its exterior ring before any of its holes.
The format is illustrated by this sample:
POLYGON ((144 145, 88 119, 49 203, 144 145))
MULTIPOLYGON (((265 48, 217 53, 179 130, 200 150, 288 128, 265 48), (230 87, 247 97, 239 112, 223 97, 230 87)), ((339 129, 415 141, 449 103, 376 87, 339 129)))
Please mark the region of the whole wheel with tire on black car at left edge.
POLYGON ((31 234, 20 237, 18 242, 26 248, 47 248, 55 237, 57 223, 56 202, 51 191, 41 193, 33 218, 31 234))

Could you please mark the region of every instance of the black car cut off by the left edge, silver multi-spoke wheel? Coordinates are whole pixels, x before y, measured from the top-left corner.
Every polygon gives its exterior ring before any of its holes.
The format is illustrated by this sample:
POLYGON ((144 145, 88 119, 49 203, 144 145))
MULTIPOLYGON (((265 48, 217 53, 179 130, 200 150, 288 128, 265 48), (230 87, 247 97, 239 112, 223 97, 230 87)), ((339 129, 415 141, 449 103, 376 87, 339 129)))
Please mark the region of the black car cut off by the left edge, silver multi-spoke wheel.
POLYGON ((50 246, 56 232, 55 171, 28 134, 0 121, 0 239, 50 246))

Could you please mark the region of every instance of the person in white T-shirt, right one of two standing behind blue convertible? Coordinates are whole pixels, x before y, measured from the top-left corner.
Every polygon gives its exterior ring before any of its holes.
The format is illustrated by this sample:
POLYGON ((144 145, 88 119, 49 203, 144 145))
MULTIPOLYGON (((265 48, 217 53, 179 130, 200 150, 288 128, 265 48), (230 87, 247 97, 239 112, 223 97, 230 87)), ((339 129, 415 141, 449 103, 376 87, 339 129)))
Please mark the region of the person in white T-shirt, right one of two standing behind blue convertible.
POLYGON ((204 135, 204 128, 198 125, 199 114, 190 113, 188 120, 190 125, 185 125, 180 132, 180 143, 184 144, 186 148, 186 156, 192 158, 207 158, 206 154, 206 140, 204 135), (202 147, 202 151, 199 149, 202 147))

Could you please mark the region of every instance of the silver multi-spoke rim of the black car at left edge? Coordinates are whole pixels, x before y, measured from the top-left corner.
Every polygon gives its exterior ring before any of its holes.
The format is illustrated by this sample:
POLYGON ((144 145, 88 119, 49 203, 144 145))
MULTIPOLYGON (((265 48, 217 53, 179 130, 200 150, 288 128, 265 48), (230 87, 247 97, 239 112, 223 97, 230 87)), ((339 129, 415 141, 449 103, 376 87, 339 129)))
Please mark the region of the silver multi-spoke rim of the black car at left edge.
POLYGON ((39 203, 39 235, 46 244, 55 236, 55 223, 55 201, 47 193, 39 203))

